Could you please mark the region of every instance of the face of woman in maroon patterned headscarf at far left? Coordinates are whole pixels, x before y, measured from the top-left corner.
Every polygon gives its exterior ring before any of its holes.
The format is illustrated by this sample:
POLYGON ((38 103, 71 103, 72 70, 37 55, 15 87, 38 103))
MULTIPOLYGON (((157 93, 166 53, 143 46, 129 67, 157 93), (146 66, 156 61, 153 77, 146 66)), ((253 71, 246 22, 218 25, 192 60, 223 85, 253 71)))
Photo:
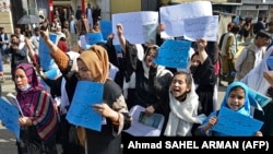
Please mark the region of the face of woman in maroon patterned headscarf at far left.
POLYGON ((24 90, 28 85, 28 79, 25 74, 25 71, 22 69, 17 69, 15 71, 15 84, 19 90, 24 90))

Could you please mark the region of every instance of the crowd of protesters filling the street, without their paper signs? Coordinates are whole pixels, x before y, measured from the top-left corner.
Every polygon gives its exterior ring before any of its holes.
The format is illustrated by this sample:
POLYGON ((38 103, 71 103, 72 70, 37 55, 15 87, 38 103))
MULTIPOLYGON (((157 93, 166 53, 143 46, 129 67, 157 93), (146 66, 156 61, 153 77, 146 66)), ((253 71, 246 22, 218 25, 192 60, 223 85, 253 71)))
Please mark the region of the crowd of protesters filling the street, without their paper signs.
MULTIPOLYGON (((144 107, 147 115, 164 115, 161 137, 225 135, 212 130, 218 112, 215 95, 223 81, 228 85, 221 106, 263 121, 253 137, 273 135, 272 103, 263 107, 262 115, 258 109, 251 110, 249 98, 249 87, 273 95, 270 72, 273 66, 269 60, 273 50, 273 21, 264 23, 264 17, 259 17, 253 24, 251 17, 239 17, 240 22, 228 23, 219 43, 203 38, 192 43, 188 69, 178 70, 154 62, 166 40, 161 38, 161 32, 168 27, 162 24, 157 28, 157 39, 145 45, 130 43, 123 35, 122 24, 117 24, 112 31, 117 32, 121 57, 112 45, 112 34, 106 43, 87 49, 82 47, 80 36, 102 31, 99 13, 94 10, 99 9, 88 3, 86 13, 80 8, 76 11, 70 8, 67 16, 62 16, 63 12, 56 9, 51 23, 40 15, 43 21, 33 32, 22 33, 16 27, 10 36, 0 27, 0 59, 11 64, 16 98, 23 111, 19 118, 20 154, 34 151, 57 154, 57 143, 61 144, 63 154, 120 154, 122 137, 132 138, 122 130, 132 125, 130 109, 135 105, 144 107), (49 38, 50 33, 58 36, 57 43, 49 38), (236 57, 237 43, 251 38, 254 40, 236 57), (40 39, 52 58, 49 69, 40 66, 40 39), (266 69, 262 68, 264 64, 266 69), (249 73, 259 79, 257 84, 250 85, 249 73), (66 119, 76 83, 83 80, 104 86, 103 103, 90 108, 106 120, 100 132, 74 126, 66 119), (266 86, 261 90, 258 84, 266 86)), ((0 62, 0 76, 3 62, 0 62)))

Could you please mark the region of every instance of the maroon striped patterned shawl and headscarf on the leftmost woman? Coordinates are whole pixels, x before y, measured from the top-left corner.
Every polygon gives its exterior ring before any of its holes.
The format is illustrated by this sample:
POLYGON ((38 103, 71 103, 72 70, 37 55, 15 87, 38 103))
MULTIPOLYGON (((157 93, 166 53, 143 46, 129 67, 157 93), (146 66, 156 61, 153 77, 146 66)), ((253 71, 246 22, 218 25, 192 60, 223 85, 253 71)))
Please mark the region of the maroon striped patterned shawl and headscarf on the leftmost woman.
POLYGON ((16 87, 16 98, 24 116, 31 117, 40 139, 50 139, 57 129, 57 115, 51 95, 40 83, 32 64, 22 63, 16 67, 24 70, 31 87, 21 91, 16 87))

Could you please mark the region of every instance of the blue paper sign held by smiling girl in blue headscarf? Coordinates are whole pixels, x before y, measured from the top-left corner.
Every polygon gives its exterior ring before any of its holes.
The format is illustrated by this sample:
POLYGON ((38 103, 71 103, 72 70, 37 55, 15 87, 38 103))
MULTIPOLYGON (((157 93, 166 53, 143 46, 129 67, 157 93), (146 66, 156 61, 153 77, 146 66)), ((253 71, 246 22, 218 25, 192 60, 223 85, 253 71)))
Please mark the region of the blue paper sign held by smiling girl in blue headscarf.
POLYGON ((233 137, 253 137, 263 125, 262 121, 226 107, 221 108, 217 118, 218 121, 212 129, 233 137))

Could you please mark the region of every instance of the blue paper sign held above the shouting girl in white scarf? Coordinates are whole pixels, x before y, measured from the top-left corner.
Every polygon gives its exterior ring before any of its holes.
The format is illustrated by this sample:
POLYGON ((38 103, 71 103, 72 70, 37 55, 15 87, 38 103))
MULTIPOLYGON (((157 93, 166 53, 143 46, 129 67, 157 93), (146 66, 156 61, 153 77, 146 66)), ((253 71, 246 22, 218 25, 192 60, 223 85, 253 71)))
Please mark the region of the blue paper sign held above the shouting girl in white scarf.
POLYGON ((186 69, 190 46, 190 42, 167 39, 161 46, 154 62, 169 68, 186 69))

